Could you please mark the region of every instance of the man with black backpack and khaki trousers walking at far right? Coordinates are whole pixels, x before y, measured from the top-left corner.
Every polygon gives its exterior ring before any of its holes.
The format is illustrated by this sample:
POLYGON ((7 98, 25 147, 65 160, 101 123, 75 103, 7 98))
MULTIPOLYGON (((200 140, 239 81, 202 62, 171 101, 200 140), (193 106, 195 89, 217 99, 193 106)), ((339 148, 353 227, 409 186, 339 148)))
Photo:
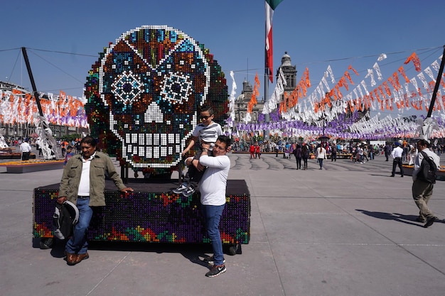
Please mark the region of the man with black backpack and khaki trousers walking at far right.
POLYGON ((440 158, 436 153, 429 150, 426 140, 417 142, 416 159, 414 160, 414 171, 412 172, 412 198, 419 208, 419 216, 416 221, 425 223, 424 228, 431 226, 437 217, 429 210, 429 198, 433 194, 436 182, 436 170, 439 168, 440 158))

